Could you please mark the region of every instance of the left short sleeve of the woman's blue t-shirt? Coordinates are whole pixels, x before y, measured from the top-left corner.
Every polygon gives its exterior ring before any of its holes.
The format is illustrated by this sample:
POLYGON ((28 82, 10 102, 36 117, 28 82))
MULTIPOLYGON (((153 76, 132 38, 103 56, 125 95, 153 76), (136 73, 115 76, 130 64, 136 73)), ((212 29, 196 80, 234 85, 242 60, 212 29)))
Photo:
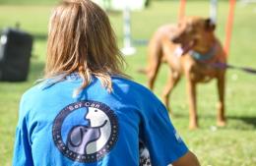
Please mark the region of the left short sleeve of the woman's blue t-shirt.
POLYGON ((13 166, 32 166, 32 149, 29 141, 27 118, 24 112, 23 99, 20 104, 19 121, 16 128, 13 166))

